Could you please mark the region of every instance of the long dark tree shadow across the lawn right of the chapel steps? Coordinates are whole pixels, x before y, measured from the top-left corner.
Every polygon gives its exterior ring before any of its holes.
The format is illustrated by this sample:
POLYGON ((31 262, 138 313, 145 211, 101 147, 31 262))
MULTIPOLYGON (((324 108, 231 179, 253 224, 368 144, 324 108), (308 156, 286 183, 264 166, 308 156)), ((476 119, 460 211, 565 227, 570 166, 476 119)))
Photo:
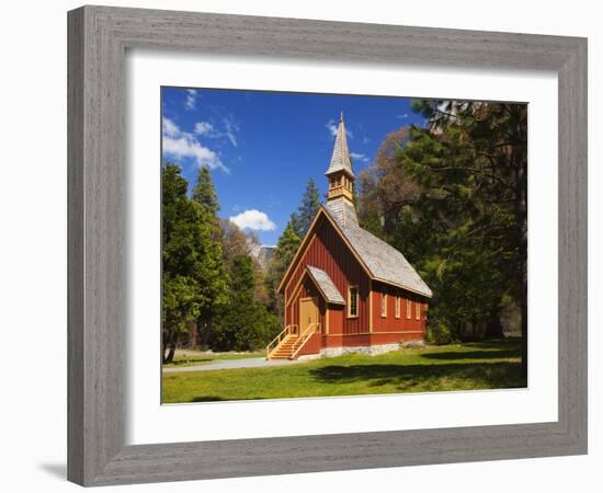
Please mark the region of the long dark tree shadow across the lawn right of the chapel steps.
MULTIPOLYGON (((369 387, 396 386, 400 390, 437 386, 442 380, 471 381, 473 387, 526 387, 520 363, 480 363, 442 365, 329 365, 310 370, 321 383, 364 382, 369 387)), ((462 386, 463 387, 463 386, 462 386)), ((465 386, 466 387, 466 386, 465 386)))

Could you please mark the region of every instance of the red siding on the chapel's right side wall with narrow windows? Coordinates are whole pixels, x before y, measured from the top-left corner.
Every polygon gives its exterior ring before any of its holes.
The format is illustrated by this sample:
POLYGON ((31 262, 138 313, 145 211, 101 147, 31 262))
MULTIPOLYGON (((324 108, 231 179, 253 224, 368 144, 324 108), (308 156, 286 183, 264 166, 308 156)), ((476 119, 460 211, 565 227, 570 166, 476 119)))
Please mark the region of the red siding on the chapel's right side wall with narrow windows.
POLYGON ((383 283, 373 283, 373 332, 424 333, 428 303, 412 293, 383 283), (387 317, 382 317, 382 297, 387 294, 387 317), (396 318, 396 296, 400 297, 400 318, 396 318), (407 318, 407 300, 411 301, 410 318, 407 318), (420 320, 416 318, 417 302, 420 303, 420 320))

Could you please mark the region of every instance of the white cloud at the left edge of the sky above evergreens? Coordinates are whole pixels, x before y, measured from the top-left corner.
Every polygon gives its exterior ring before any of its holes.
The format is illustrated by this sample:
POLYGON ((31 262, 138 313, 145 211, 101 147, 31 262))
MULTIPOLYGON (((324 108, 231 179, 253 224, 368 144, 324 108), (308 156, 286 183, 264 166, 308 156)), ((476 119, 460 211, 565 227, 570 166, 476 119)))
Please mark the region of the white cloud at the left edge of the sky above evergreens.
POLYGON ((162 127, 163 153, 166 156, 175 159, 194 159, 200 168, 207 167, 211 170, 219 168, 226 173, 229 173, 228 168, 224 165, 219 156, 212 149, 202 146, 192 134, 182 131, 179 126, 169 118, 163 118, 162 127))

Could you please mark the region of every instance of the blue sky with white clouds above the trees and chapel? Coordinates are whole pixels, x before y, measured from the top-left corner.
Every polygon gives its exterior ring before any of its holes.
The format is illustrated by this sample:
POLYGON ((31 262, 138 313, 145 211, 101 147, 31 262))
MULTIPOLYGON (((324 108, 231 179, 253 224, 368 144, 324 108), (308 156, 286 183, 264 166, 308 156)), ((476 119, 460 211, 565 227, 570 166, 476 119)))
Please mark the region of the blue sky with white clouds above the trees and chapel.
POLYGON ((212 171, 223 217, 263 244, 276 244, 309 177, 327 191, 340 112, 354 171, 366 168, 387 134, 423 125, 411 100, 162 88, 163 161, 182 167, 194 185, 198 167, 212 171))

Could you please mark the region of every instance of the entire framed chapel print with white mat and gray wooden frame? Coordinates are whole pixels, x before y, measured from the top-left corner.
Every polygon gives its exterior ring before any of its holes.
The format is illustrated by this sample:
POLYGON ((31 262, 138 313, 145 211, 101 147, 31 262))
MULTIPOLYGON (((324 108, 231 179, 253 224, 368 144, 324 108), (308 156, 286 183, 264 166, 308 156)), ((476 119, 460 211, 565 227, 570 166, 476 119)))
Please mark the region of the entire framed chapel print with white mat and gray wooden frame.
POLYGON ((585 60, 70 12, 69 479, 584 454, 585 60))

